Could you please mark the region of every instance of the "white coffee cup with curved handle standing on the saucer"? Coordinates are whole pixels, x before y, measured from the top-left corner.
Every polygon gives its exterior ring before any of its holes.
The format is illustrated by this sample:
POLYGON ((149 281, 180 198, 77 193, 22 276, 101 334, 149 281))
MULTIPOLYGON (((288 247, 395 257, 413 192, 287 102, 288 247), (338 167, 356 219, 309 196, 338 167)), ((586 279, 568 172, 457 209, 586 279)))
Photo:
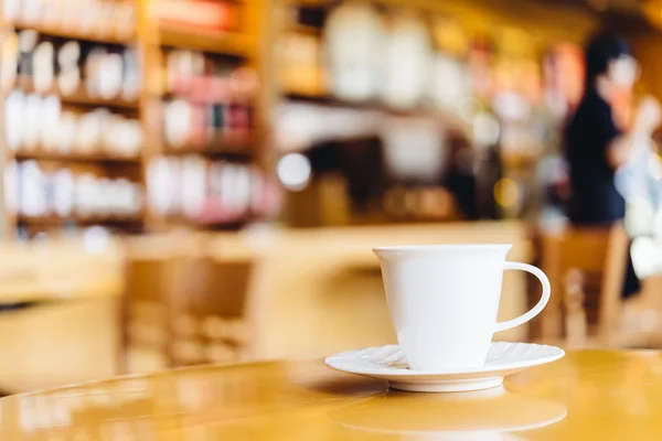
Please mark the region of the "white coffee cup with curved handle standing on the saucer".
POLYGON ((505 261, 512 245, 380 247, 391 319, 410 369, 461 370, 484 364, 492 335, 536 316, 549 300, 538 268, 505 261), (528 312, 498 322, 503 271, 531 272, 543 286, 528 312))

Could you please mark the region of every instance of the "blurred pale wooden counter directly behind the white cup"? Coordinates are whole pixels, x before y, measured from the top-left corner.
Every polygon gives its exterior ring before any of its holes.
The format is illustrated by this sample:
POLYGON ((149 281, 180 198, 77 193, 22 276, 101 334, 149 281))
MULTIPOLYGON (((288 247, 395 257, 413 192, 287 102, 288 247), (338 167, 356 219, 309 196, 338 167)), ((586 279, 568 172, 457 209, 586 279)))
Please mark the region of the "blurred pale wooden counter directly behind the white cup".
MULTIPOLYGON (((509 260, 528 262, 533 250, 525 223, 465 222, 245 232, 212 236, 210 247, 226 256, 259 252, 265 259, 267 294, 259 358, 319 357, 362 346, 394 343, 377 259, 385 245, 509 243, 509 260)), ((523 313, 526 275, 504 275, 500 320, 523 313)), ((499 340, 526 340, 527 326, 500 333, 499 340)))

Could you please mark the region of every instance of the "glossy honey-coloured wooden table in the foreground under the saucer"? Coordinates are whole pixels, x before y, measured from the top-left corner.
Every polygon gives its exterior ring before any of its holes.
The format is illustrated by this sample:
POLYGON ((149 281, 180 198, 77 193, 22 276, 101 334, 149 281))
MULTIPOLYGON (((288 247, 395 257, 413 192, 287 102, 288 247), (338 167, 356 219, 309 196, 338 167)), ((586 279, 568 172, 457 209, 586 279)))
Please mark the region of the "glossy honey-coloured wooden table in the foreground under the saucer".
POLYGON ((662 353, 569 352, 465 394, 406 394, 322 362, 201 367, 0 400, 0 439, 659 440, 662 353))

